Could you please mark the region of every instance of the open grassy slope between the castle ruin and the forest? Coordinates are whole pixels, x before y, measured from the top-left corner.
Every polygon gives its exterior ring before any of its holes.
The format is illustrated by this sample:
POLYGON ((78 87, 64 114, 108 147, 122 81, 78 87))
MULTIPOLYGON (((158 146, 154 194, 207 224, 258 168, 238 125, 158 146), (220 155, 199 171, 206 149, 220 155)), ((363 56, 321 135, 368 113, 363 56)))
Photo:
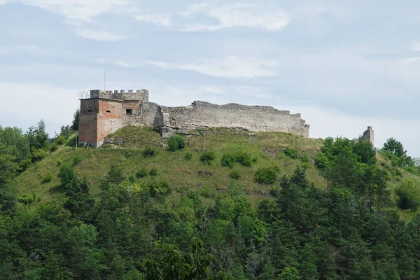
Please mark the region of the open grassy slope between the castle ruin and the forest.
MULTIPOLYGON (((199 132, 186 137, 187 146, 181 151, 171 152, 166 148, 166 140, 162 139, 157 132, 146 127, 124 127, 113 138, 124 139, 122 146, 104 145, 101 148, 84 149, 64 146, 46 158, 31 166, 20 174, 15 180, 20 195, 34 194, 36 201, 50 201, 59 199, 62 194, 59 191, 60 166, 66 162, 78 162, 74 169, 80 178, 85 177, 90 183, 92 195, 100 193, 100 185, 111 165, 118 165, 125 176, 135 176, 139 169, 158 169, 155 178, 165 179, 175 190, 191 188, 198 190, 204 197, 211 200, 216 195, 223 195, 230 183, 229 172, 232 169, 241 172, 239 183, 244 186, 246 194, 251 201, 257 202, 269 195, 273 186, 255 183, 254 175, 260 167, 277 167, 279 176, 292 174, 298 159, 292 159, 283 153, 287 147, 293 147, 298 155, 308 153, 313 158, 322 146, 321 139, 306 139, 293 134, 285 133, 258 133, 251 139, 248 132, 230 129, 209 129, 206 131, 205 148, 214 151, 216 159, 212 165, 204 165, 200 162, 200 153, 203 151, 203 137, 199 132), (137 135, 137 150, 135 139, 137 135), (153 157, 144 157, 144 148, 155 148, 157 151, 153 157), (251 167, 243 167, 236 164, 235 167, 222 167, 221 158, 223 153, 243 151, 250 153, 257 161, 251 167), (186 153, 192 153, 193 158, 186 160, 186 153), (51 181, 45 181, 46 177, 52 177, 51 181)), ((310 181, 319 188, 326 187, 326 181, 311 164, 307 165, 307 174, 310 181)), ((150 180, 147 176, 139 181, 150 180)))

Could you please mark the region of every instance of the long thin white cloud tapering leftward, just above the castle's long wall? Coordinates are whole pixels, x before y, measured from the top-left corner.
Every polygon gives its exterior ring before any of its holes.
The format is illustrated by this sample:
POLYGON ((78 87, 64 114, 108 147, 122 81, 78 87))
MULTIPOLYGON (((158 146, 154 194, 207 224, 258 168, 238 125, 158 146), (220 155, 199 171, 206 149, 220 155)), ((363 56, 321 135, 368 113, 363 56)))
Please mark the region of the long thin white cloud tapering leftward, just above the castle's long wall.
POLYGON ((182 69, 197 71, 209 76, 225 78, 255 78, 258 76, 276 76, 279 64, 275 60, 255 57, 227 57, 225 59, 202 59, 190 64, 167 62, 149 62, 164 69, 182 69))

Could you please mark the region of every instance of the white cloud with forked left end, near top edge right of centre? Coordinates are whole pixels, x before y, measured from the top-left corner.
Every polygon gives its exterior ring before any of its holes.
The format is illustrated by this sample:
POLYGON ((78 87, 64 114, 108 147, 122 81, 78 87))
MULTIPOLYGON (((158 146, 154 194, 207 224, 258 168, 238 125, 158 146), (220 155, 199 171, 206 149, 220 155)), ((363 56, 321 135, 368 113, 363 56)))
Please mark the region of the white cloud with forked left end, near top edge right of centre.
POLYGON ((290 22, 290 16, 279 8, 270 6, 261 8, 257 4, 228 4, 222 6, 201 3, 190 6, 181 13, 184 17, 191 17, 197 13, 204 13, 218 21, 215 25, 195 23, 187 25, 184 31, 214 31, 230 27, 255 27, 268 31, 278 31, 290 22))

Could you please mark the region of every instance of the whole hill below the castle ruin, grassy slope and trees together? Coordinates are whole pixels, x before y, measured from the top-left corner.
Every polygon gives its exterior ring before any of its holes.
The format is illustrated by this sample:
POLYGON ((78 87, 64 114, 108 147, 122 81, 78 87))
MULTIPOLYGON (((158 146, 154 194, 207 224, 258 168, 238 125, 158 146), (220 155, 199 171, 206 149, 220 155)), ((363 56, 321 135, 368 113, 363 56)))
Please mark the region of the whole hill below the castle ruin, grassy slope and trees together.
POLYGON ((420 279, 419 169, 395 139, 378 153, 363 139, 124 127, 119 144, 76 151, 11 132, 4 279, 420 279))

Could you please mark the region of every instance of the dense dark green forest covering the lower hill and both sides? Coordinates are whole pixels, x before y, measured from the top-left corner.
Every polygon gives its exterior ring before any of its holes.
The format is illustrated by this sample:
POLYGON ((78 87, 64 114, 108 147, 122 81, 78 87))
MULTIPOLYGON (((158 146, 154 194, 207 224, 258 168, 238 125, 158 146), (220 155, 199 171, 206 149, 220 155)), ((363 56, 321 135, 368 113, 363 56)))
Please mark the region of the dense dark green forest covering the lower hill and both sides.
MULTIPOLYGON (((92 197, 88 178, 74 172, 77 160, 59 163, 61 200, 34 203, 19 194, 16 176, 65 145, 76 128, 50 139, 43 121, 25 133, 0 127, 1 279, 420 279, 419 186, 400 180, 387 188, 419 168, 395 139, 376 151, 362 139, 328 138, 290 176, 278 176, 276 166, 258 168, 255 182, 271 192, 256 204, 235 169, 211 204, 156 170, 139 167, 126 176, 118 165, 92 197), (325 189, 307 178, 308 162, 328 182, 325 189), (401 219, 400 211, 412 218, 401 219)), ((165 153, 186 145, 175 136, 165 153)), ((155 153, 144 148, 142 156, 155 153)), ((258 161, 246 152, 192 158, 181 160, 225 168, 258 161)))

